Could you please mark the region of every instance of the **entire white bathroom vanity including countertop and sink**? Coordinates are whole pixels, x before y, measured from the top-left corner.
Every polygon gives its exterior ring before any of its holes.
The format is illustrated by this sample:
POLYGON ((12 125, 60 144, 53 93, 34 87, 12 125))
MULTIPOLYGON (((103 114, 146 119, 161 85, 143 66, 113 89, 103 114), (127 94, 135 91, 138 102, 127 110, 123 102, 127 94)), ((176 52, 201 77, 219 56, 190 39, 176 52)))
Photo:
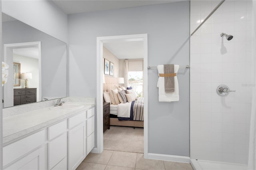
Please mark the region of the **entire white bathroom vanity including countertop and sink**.
POLYGON ((95 109, 94 103, 77 105, 65 103, 4 118, 4 170, 76 169, 94 148, 95 109))

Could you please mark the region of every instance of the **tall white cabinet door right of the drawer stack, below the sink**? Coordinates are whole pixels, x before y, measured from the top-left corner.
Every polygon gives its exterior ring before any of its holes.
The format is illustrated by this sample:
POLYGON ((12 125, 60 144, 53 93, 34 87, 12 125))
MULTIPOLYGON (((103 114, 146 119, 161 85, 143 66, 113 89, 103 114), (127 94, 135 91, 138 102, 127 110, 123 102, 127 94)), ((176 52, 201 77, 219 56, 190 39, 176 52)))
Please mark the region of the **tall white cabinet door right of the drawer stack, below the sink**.
POLYGON ((68 169, 76 169, 86 156, 86 125, 68 131, 68 169))

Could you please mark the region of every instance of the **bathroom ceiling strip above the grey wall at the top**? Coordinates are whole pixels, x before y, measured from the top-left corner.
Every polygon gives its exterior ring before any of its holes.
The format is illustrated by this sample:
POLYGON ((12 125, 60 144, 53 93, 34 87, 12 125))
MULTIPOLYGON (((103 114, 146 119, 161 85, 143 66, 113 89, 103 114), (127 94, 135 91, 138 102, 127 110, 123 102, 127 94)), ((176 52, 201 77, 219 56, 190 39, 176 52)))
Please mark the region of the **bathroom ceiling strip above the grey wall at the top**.
POLYGON ((182 0, 52 0, 66 14, 164 4, 182 0))

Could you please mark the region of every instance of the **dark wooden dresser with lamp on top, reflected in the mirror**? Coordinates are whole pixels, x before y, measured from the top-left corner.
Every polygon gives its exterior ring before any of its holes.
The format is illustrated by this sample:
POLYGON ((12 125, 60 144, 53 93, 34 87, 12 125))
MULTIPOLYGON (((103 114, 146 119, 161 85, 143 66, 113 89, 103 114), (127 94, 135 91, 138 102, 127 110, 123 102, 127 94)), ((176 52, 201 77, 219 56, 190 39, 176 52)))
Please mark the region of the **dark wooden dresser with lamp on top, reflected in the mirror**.
POLYGON ((36 88, 13 89, 13 105, 36 102, 36 88))

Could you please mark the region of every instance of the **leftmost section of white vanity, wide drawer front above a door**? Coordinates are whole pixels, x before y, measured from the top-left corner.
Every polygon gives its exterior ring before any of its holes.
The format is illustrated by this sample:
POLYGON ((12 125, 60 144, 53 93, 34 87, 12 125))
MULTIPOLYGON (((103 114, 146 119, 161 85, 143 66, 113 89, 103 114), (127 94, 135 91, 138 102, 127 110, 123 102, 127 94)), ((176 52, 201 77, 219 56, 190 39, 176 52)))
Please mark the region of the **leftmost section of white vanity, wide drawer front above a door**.
POLYGON ((6 170, 45 170, 45 130, 36 132, 3 148, 3 166, 6 170))

